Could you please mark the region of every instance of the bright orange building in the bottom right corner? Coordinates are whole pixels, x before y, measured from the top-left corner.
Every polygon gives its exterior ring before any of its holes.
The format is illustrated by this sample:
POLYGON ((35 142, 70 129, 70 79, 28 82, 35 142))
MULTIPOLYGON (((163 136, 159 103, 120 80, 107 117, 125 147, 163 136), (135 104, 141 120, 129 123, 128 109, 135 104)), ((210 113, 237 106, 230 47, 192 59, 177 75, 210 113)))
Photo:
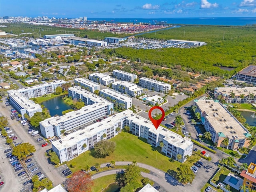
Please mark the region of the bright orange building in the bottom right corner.
POLYGON ((247 170, 242 170, 240 176, 244 177, 243 185, 248 189, 256 190, 256 164, 250 163, 247 170))

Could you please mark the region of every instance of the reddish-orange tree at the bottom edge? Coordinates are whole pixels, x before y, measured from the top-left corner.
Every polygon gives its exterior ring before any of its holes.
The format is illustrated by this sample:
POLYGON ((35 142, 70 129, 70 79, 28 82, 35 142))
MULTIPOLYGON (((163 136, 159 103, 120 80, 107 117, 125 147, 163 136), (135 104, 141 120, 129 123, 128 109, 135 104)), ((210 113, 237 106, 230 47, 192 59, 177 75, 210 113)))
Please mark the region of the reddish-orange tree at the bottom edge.
POLYGON ((70 192, 91 192, 93 185, 90 174, 82 171, 74 172, 67 180, 67 189, 70 192))

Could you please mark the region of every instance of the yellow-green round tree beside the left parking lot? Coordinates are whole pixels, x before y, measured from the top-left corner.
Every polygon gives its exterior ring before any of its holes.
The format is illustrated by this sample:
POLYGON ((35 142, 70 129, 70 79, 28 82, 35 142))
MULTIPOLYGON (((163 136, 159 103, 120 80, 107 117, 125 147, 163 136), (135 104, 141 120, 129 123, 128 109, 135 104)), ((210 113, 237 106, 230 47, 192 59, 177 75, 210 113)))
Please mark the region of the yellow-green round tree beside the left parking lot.
POLYGON ((12 150, 12 154, 17 156, 18 159, 23 160, 27 157, 27 155, 36 152, 36 148, 34 145, 30 143, 22 143, 15 146, 12 150))

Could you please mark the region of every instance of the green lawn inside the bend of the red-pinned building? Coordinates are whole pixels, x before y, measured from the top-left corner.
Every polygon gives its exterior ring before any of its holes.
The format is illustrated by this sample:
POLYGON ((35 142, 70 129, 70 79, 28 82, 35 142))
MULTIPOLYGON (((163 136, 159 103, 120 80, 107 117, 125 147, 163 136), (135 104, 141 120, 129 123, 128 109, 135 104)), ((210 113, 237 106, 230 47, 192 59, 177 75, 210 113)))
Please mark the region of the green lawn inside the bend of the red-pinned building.
MULTIPOLYGON (((115 160, 116 162, 135 160, 136 162, 148 164, 163 171, 167 171, 168 169, 175 171, 181 164, 180 162, 170 160, 170 158, 162 154, 160 147, 156 151, 144 138, 138 138, 127 132, 121 132, 118 136, 112 138, 111 141, 116 142, 116 150, 110 156, 106 158, 94 158, 91 155, 93 153, 92 149, 69 161, 67 164, 68 167, 70 167, 72 162, 76 162, 76 168, 70 168, 72 172, 75 172, 84 169, 86 164, 94 166, 96 163, 108 163, 111 160, 115 160)), ((199 158, 199 156, 192 156, 189 160, 192 159, 195 162, 199 158)), ((189 162, 189 160, 185 163, 192 165, 193 162, 189 162)))

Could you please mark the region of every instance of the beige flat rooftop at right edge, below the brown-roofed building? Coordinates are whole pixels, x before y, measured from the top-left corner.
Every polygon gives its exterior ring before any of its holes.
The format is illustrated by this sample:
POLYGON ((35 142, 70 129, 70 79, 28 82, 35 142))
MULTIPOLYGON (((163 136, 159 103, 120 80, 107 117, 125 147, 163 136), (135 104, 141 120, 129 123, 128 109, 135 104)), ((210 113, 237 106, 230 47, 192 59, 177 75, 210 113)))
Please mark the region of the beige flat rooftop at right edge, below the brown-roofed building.
POLYGON ((224 94, 230 95, 231 92, 233 92, 235 96, 240 96, 241 94, 244 94, 244 96, 247 96, 248 94, 252 94, 252 93, 256 95, 256 87, 246 87, 246 88, 217 87, 215 89, 216 91, 221 92, 223 95, 224 94))

